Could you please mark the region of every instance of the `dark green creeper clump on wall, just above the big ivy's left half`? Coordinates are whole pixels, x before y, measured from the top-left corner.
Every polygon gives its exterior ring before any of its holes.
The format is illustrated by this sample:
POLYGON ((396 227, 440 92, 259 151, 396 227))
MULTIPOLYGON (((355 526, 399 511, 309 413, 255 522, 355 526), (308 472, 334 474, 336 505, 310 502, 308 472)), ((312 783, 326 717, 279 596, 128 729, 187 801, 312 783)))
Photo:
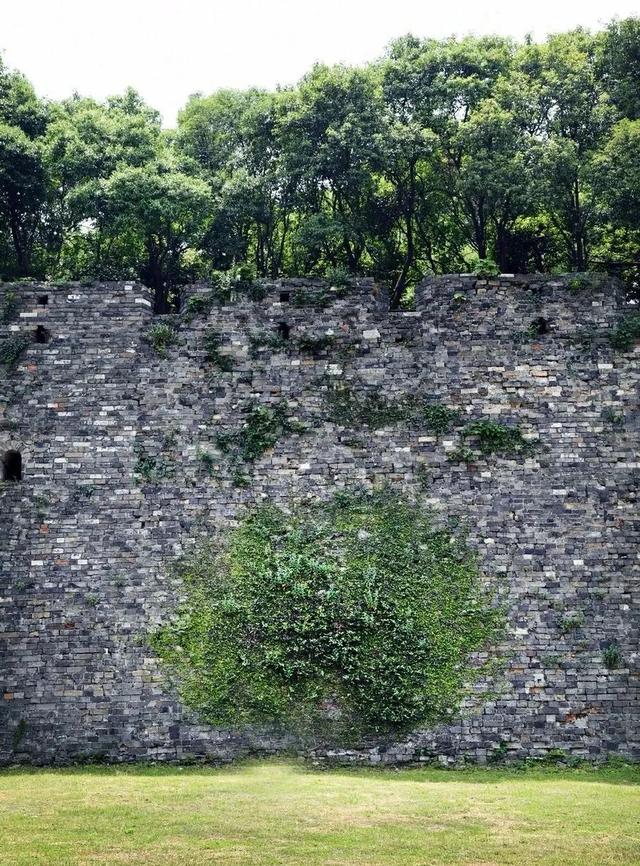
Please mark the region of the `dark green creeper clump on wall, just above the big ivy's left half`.
POLYGON ((242 426, 232 432, 216 436, 218 448, 229 456, 232 463, 254 463, 273 448, 276 442, 290 433, 301 433, 302 425, 289 417, 284 403, 275 406, 250 406, 242 426))

